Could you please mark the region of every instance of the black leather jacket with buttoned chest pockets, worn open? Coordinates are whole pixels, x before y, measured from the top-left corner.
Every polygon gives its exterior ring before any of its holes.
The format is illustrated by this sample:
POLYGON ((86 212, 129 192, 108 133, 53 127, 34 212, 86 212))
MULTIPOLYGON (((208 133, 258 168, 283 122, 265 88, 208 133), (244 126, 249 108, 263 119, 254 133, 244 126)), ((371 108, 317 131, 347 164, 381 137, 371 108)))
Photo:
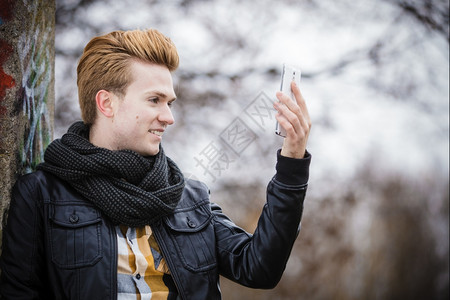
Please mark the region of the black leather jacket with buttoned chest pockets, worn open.
MULTIPOLYGON (((210 203, 204 184, 187 180, 175 213, 152 225, 182 299, 220 299, 219 274, 253 288, 278 283, 298 235, 301 177, 272 179, 253 235, 210 203)), ((3 299, 116 299, 115 227, 58 178, 25 175, 13 189, 0 267, 3 299)))

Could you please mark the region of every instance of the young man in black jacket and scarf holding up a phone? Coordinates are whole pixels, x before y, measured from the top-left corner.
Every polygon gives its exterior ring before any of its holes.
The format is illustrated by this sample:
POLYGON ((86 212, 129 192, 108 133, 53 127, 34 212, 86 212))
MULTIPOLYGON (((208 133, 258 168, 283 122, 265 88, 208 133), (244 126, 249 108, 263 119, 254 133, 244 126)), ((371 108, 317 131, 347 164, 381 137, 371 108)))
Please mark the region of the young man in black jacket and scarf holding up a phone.
POLYGON ((220 299, 219 275, 273 288, 298 235, 310 155, 305 101, 278 93, 287 137, 255 233, 184 179, 161 139, 178 54, 156 30, 92 39, 78 65, 83 122, 16 183, 2 299, 220 299))

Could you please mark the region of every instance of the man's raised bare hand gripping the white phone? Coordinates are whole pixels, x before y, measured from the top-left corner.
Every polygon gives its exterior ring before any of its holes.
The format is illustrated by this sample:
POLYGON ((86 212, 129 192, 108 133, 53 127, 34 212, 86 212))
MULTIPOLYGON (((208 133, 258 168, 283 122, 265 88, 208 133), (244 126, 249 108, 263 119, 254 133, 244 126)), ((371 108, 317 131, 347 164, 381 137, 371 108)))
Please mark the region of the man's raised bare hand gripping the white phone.
POLYGON ((277 92, 277 98, 281 103, 274 102, 274 108, 278 111, 275 118, 281 127, 286 130, 281 155, 291 158, 303 158, 311 129, 311 119, 309 118, 305 99, 294 82, 291 83, 291 89, 295 99, 291 99, 282 92, 277 92))

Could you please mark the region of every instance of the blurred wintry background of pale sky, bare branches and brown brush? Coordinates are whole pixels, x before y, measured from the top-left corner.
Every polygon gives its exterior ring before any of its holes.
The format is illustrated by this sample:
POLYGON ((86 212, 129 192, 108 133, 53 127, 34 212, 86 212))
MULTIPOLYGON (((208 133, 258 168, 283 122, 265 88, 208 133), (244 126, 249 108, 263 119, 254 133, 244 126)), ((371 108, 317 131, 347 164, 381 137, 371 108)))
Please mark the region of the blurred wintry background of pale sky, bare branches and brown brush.
POLYGON ((274 290, 222 278, 223 299, 448 299, 448 1, 56 3, 55 137, 80 119, 84 45, 156 28, 181 59, 165 151, 250 232, 282 144, 282 64, 301 69, 313 160, 300 236, 274 290))

